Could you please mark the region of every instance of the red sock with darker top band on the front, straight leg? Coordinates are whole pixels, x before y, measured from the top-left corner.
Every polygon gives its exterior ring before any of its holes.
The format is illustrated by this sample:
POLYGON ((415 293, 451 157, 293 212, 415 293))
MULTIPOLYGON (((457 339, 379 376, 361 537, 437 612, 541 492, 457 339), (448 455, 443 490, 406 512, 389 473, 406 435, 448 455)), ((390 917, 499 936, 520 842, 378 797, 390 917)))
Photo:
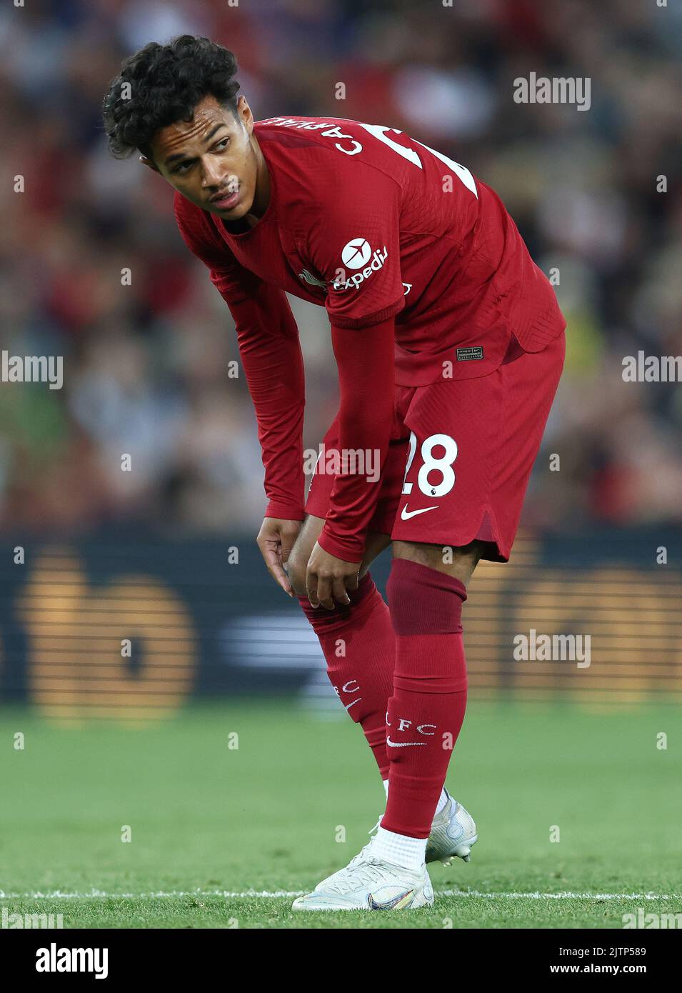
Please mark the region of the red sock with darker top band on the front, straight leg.
POLYGON ((381 826, 428 838, 467 707, 467 590, 459 579, 407 559, 393 559, 386 590, 396 662, 386 714, 390 773, 381 826))

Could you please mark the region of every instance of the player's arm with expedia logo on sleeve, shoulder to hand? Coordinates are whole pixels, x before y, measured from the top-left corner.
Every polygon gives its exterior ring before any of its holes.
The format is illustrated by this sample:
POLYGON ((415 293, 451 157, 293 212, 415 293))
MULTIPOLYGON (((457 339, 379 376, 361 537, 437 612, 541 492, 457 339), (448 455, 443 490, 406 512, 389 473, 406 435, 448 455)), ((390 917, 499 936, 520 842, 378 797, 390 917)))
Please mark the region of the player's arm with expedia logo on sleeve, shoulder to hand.
MULTIPOLYGON (((404 306, 400 275, 400 188, 360 157, 330 160, 331 183, 317 194, 305 250, 328 280, 327 311, 339 367, 340 447, 383 468, 393 422, 395 315, 404 306)), ((366 469, 366 466, 365 466, 366 469)), ((369 472, 340 473, 308 565, 313 606, 347 602, 379 496, 369 472)))

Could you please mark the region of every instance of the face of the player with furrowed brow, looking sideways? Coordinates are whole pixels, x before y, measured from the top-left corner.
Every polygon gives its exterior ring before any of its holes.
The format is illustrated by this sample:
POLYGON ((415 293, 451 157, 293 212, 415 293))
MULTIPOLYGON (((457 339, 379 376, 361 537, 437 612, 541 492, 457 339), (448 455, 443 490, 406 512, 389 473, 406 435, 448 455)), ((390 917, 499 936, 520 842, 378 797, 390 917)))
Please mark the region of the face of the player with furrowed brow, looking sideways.
MULTIPOLYGON (((150 165, 198 207, 225 220, 249 213, 256 196, 258 154, 253 115, 243 96, 236 117, 205 96, 191 121, 178 121, 154 136, 150 165)), ((261 153, 262 154, 262 153, 261 153)))

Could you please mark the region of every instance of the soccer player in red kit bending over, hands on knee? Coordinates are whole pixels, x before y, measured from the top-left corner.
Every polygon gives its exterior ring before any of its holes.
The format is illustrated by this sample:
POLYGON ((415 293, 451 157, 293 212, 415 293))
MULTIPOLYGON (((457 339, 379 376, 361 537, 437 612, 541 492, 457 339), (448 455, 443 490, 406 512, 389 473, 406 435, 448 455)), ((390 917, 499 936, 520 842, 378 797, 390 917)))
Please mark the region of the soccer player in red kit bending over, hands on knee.
POLYGON ((174 187, 234 319, 265 468, 258 545, 386 786, 369 843, 294 907, 414 909, 434 901, 426 863, 468 860, 477 840, 445 788, 467 701, 462 605, 479 559, 508 560, 565 321, 468 169, 378 124, 254 122, 235 72, 205 38, 149 44, 112 81, 104 126, 113 155, 137 150, 174 187), (327 309, 339 369, 337 471, 307 499, 285 292, 327 309), (368 567, 389 544, 386 604, 368 567))

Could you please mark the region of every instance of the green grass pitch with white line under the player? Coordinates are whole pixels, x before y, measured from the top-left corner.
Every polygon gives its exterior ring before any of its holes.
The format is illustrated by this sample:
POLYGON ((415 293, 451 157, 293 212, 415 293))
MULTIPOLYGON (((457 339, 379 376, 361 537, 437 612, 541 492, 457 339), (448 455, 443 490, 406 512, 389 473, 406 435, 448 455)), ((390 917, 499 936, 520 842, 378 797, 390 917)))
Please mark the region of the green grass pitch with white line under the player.
POLYGON ((294 896, 345 865, 383 807, 344 715, 232 702, 66 728, 4 709, 0 910, 65 927, 620 928, 638 908, 677 914, 679 727, 673 706, 472 701, 448 777, 477 820, 471 863, 431 866, 426 912, 302 914, 294 896))

